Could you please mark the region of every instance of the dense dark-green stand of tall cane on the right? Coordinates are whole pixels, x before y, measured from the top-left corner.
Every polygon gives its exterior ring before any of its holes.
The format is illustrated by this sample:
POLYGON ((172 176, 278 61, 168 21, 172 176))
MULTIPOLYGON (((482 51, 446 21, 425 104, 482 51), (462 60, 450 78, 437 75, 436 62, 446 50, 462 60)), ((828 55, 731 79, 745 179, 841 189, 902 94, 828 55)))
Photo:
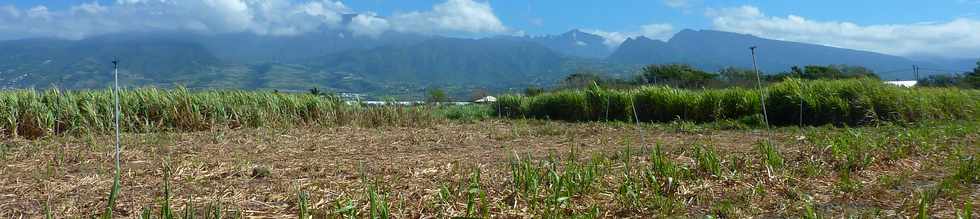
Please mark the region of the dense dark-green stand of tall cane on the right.
MULTIPOLYGON (((766 89, 770 120, 776 125, 860 125, 878 121, 975 119, 980 91, 955 88, 901 88, 877 80, 796 80, 766 89), (801 110, 802 103, 802 110, 801 110), (802 121, 800 117, 802 114, 802 121)), ((565 121, 739 120, 761 114, 759 93, 744 88, 687 90, 649 86, 632 90, 557 91, 533 97, 502 96, 500 115, 565 121), (630 102, 632 101, 632 103, 630 102), (634 117, 630 106, 636 106, 634 117)))

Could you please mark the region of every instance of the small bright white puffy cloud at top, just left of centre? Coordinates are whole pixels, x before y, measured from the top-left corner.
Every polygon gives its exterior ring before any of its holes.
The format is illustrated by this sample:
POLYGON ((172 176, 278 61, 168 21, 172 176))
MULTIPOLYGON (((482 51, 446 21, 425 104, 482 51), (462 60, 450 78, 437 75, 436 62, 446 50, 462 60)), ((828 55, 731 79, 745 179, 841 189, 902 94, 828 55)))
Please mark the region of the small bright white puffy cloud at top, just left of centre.
POLYGON ((448 0, 432 11, 398 13, 389 20, 401 32, 504 33, 504 26, 489 2, 448 0))

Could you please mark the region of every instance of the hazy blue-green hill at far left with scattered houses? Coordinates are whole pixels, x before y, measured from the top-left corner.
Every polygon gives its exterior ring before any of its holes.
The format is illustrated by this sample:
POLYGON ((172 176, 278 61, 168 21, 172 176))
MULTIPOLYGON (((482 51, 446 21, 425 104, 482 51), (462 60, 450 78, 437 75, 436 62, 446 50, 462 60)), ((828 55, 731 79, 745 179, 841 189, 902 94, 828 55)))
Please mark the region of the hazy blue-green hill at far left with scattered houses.
POLYGON ((0 51, 0 83, 6 87, 106 87, 115 57, 123 60, 123 81, 135 86, 189 83, 223 65, 198 44, 165 38, 14 40, 0 42, 0 51))

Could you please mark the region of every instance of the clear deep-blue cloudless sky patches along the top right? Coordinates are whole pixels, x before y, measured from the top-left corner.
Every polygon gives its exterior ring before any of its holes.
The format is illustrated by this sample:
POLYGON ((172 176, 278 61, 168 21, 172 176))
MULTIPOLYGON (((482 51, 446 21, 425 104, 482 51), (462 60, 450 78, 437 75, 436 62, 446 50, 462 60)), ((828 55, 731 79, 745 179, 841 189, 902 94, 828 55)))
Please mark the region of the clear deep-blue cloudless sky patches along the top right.
MULTIPOLYGON (((352 8, 374 10, 380 14, 425 10, 438 0, 365 0, 345 4, 352 8)), ((820 1, 685 1, 686 6, 671 7, 658 0, 569 1, 507 0, 490 1, 505 24, 530 34, 553 34, 573 28, 630 31, 649 23, 670 23, 681 28, 711 29, 704 16, 708 8, 753 5, 766 14, 790 14, 817 20, 850 21, 858 24, 906 24, 949 21, 956 17, 974 17, 980 13, 980 1, 962 0, 820 0, 820 1), (542 25, 533 24, 540 19, 542 25)))

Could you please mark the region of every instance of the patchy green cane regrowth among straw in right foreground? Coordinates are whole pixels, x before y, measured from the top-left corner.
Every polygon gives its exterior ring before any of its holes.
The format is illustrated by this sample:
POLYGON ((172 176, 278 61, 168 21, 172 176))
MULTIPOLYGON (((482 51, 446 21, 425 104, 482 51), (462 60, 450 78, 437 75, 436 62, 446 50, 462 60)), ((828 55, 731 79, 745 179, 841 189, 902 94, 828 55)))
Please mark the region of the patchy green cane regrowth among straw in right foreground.
MULTIPOLYGON (((401 186, 359 171, 348 188, 295 188, 278 204, 299 218, 971 218, 977 128, 975 122, 816 127, 794 132, 802 136, 796 142, 746 142, 754 148, 745 151, 697 142, 510 152, 497 163, 447 163, 423 180, 428 184, 401 186), (922 138, 887 135, 902 130, 922 138), (807 174, 810 168, 826 174, 807 174)), ((263 215, 208 199, 181 204, 168 171, 157 188, 161 201, 143 205, 141 217, 263 215)))

